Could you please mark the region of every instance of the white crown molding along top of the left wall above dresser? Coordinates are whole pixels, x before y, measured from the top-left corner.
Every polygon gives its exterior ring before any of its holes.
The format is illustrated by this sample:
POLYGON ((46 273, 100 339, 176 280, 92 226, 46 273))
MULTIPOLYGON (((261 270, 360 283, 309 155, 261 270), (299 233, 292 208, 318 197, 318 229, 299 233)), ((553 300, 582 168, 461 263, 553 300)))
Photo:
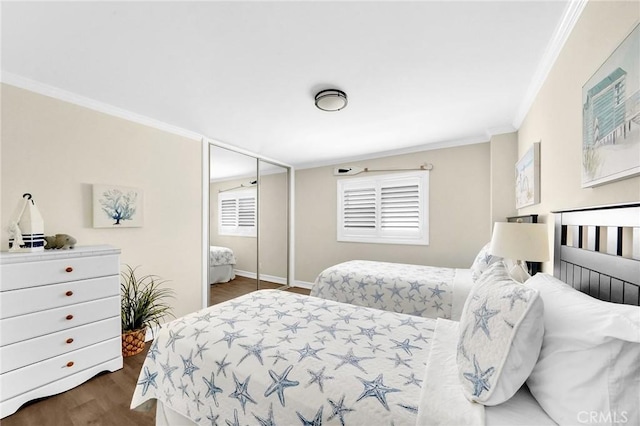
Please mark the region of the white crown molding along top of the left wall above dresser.
POLYGON ((134 123, 142 124, 143 126, 152 127, 154 129, 162 130, 164 132, 172 133, 174 135, 182 136, 188 139, 197 141, 202 140, 202 135, 191 130, 164 123, 162 121, 155 120, 153 118, 149 118, 123 108, 118 108, 104 102, 99 102, 95 99, 87 98, 85 96, 81 96, 77 93, 69 92, 58 87, 31 80, 17 74, 2 71, 2 73, 0 74, 0 81, 10 86, 29 90, 40 95, 48 96, 50 98, 58 99, 64 102, 69 102, 71 104, 108 114, 114 117, 123 118, 134 123))

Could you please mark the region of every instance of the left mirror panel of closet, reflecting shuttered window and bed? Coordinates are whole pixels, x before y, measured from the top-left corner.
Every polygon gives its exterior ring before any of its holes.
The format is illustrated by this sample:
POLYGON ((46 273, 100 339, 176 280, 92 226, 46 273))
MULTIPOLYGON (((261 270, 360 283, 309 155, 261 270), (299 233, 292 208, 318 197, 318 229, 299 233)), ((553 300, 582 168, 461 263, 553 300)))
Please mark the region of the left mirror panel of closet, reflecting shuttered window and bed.
POLYGON ((257 159, 209 146, 209 305, 256 290, 257 159))

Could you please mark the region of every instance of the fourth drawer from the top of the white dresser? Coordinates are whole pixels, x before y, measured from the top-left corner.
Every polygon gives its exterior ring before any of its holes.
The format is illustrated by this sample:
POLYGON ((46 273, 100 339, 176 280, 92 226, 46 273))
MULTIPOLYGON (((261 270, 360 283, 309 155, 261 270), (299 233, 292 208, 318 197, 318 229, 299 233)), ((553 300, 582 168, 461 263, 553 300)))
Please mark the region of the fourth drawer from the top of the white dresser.
POLYGON ((0 374, 35 362, 120 337, 120 317, 81 325, 0 347, 0 374))

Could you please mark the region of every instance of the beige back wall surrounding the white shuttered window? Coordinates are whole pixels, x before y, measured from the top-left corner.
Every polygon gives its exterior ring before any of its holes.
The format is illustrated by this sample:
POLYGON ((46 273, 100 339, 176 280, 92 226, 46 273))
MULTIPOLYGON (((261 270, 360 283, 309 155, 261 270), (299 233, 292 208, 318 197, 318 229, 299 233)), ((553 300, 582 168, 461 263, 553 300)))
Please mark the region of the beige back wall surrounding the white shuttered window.
POLYGON ((296 170, 296 280, 313 282, 325 268, 352 259, 469 267, 491 237, 489 151, 489 143, 482 143, 336 165, 388 169, 432 163, 428 246, 336 241, 334 166, 296 170))

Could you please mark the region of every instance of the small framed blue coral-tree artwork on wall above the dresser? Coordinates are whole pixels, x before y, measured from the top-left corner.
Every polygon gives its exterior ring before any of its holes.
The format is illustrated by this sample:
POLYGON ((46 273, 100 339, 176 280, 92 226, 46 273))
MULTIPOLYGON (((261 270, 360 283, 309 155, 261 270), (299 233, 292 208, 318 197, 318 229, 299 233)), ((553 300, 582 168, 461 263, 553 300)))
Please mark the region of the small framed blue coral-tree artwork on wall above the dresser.
POLYGON ((93 185, 94 228, 142 226, 143 194, 139 188, 93 185))

